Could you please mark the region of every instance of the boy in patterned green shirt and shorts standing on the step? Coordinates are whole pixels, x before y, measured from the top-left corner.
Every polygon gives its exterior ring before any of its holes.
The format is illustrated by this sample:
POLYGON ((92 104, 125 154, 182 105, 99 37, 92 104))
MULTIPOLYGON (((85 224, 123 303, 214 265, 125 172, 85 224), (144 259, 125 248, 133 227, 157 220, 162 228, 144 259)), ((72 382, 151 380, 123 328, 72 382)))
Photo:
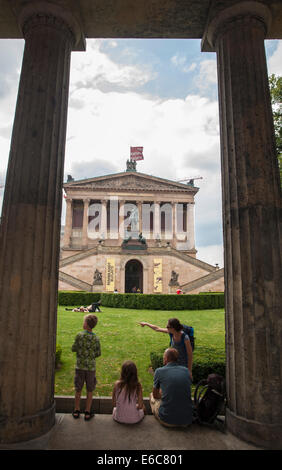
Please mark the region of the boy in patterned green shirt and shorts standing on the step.
POLYGON ((85 421, 89 421, 94 413, 91 413, 93 390, 96 387, 96 361, 95 358, 101 356, 101 346, 98 336, 92 332, 97 325, 96 315, 86 315, 83 321, 83 331, 75 337, 72 351, 76 352, 75 369, 75 405, 72 413, 74 418, 80 415, 80 396, 84 383, 86 383, 86 406, 85 421))

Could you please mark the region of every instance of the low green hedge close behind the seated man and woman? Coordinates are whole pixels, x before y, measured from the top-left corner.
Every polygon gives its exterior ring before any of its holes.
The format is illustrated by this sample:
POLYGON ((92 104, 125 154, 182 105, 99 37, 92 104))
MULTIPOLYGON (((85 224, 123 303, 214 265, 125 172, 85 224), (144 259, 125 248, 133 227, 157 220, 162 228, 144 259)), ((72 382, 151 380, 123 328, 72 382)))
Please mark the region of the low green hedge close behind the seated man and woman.
MULTIPOLYGON (((153 351, 150 354, 153 370, 163 366, 163 351, 153 351)), ((193 384, 206 379, 209 374, 219 374, 225 377, 225 351, 214 348, 199 347, 193 354, 193 384)))

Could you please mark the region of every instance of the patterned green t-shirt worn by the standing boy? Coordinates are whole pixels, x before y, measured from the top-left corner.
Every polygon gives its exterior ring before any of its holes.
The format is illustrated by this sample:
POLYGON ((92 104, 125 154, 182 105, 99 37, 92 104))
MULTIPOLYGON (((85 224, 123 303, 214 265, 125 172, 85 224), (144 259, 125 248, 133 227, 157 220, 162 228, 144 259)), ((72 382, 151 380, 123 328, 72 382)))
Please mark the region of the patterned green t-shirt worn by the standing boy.
POLYGON ((101 356, 101 346, 95 333, 81 331, 76 335, 71 349, 76 352, 76 369, 96 370, 95 358, 101 356))

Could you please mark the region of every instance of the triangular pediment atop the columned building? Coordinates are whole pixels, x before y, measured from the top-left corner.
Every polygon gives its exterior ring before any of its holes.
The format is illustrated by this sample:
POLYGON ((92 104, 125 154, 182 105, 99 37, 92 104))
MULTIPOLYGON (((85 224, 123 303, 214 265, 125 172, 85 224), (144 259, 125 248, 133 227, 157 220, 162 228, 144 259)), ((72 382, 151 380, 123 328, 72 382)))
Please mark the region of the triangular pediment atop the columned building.
POLYGON ((69 181, 64 184, 65 189, 89 189, 89 190, 130 190, 130 191, 181 191, 194 194, 198 191, 192 185, 178 183, 176 181, 157 178, 138 172, 123 172, 114 175, 98 176, 79 181, 69 181))

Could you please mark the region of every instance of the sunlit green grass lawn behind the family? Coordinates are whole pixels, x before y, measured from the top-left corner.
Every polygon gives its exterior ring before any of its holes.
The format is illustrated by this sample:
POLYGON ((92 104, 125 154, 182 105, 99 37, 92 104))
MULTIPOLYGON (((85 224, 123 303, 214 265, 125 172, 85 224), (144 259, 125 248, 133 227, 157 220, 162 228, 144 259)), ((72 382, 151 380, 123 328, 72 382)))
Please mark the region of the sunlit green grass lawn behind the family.
MULTIPOLYGON (((69 307, 70 308, 70 307, 69 307)), ((166 327, 168 318, 176 317, 182 323, 194 327, 196 354, 203 354, 207 347, 220 350, 224 354, 225 323, 224 310, 130 310, 101 307, 97 312, 98 324, 93 330, 100 338, 102 355, 97 358, 97 387, 94 396, 111 396, 114 382, 119 378, 121 364, 132 360, 138 368, 143 395, 152 391, 153 376, 148 372, 150 352, 165 349, 169 336, 156 333, 151 328, 142 328, 138 322, 147 321, 166 327)), ((75 353, 71 351, 75 335, 82 331, 84 313, 66 311, 58 307, 57 344, 62 347, 61 366, 56 371, 55 395, 73 395, 75 353)), ((85 388, 83 389, 85 393, 85 388)))

